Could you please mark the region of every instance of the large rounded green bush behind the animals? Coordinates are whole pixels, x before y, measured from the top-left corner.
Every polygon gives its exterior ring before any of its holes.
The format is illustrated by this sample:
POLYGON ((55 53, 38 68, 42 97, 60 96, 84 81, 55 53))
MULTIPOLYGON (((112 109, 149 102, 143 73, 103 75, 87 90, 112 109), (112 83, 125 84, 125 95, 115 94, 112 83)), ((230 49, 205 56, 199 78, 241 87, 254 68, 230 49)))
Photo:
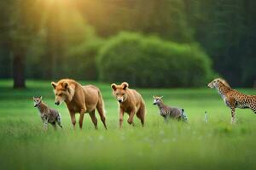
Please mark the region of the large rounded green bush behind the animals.
POLYGON ((199 87, 212 80, 211 59, 197 44, 122 32, 97 57, 100 80, 143 88, 199 87))

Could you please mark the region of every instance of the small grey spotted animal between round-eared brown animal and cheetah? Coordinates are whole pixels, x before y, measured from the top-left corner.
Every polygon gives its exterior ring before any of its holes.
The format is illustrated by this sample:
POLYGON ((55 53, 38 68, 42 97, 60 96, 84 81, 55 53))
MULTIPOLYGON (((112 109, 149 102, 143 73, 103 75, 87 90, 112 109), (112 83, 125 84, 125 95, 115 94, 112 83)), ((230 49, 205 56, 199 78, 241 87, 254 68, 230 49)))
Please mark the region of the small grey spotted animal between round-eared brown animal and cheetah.
POLYGON ((163 96, 161 97, 153 96, 153 98, 154 98, 153 105, 158 105, 160 110, 159 112, 160 116, 163 116, 165 120, 167 120, 168 118, 174 118, 177 120, 188 122, 188 117, 186 116, 183 109, 165 105, 162 100, 163 96))

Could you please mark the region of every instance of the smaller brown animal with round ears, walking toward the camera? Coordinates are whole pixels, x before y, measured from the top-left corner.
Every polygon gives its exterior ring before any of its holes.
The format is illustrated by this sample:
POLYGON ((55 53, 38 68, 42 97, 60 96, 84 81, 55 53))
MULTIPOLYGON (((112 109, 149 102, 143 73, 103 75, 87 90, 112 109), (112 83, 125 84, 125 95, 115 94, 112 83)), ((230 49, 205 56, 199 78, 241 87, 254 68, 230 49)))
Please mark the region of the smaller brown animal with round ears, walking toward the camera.
POLYGON ((123 82, 121 85, 112 84, 113 95, 119 102, 119 127, 122 127, 124 120, 124 112, 128 113, 129 118, 127 122, 133 125, 133 116, 141 120, 144 126, 145 118, 145 102, 141 94, 136 90, 128 88, 129 84, 123 82))

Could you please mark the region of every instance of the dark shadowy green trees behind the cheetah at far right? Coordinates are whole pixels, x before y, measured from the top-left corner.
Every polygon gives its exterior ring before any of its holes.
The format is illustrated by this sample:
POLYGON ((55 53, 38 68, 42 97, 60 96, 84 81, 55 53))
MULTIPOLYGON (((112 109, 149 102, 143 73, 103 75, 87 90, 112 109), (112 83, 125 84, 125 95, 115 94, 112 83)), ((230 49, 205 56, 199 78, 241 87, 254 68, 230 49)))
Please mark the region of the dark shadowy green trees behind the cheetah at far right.
POLYGON ((232 85, 252 87, 256 79, 255 1, 196 0, 190 4, 189 23, 195 39, 212 56, 214 69, 232 85))

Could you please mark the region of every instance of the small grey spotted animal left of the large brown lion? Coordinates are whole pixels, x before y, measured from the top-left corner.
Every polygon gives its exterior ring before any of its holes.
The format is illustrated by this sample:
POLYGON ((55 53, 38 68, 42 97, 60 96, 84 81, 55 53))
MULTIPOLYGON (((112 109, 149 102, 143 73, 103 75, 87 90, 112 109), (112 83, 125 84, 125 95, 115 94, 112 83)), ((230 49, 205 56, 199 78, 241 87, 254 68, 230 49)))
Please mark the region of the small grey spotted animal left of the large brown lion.
POLYGON ((50 123, 53 127, 56 128, 56 122, 62 128, 61 115, 58 111, 54 109, 49 109, 49 107, 44 104, 42 96, 33 97, 33 100, 34 107, 38 107, 38 111, 40 113, 42 121, 44 122, 45 129, 48 127, 48 123, 50 123))

